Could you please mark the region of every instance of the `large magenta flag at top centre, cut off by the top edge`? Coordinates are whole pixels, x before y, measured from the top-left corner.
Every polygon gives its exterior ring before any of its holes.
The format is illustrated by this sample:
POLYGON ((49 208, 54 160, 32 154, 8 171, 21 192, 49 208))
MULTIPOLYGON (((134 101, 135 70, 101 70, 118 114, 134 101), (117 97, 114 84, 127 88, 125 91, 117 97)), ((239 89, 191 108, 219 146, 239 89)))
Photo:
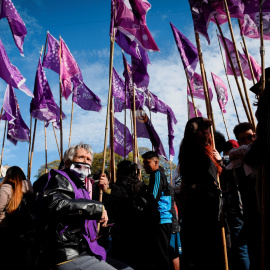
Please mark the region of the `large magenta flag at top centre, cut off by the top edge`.
POLYGON ((151 5, 146 0, 112 0, 115 14, 112 12, 111 31, 114 26, 131 41, 138 43, 146 51, 159 51, 159 48, 146 26, 146 13, 151 5))

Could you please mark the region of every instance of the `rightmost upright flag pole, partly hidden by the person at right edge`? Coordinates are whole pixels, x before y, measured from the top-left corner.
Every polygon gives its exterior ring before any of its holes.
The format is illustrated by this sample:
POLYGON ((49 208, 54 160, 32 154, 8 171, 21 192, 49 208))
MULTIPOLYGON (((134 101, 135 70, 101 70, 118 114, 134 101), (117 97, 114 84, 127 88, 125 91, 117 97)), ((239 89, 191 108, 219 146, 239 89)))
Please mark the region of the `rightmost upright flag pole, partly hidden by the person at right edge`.
MULTIPOLYGON (((261 69, 262 69, 262 75, 261 75, 261 85, 262 85, 262 90, 259 93, 260 98, 262 97, 262 95, 264 94, 265 91, 265 62, 264 62, 264 55, 265 55, 265 47, 264 47, 264 40, 263 40, 263 12, 262 12, 262 0, 259 1, 260 4, 260 54, 261 54, 261 69)), ((261 269, 265 270, 266 269, 266 258, 267 258, 267 254, 266 254, 266 250, 267 250, 267 246, 269 245, 269 243, 267 243, 266 238, 267 238, 267 226, 269 226, 269 224, 267 224, 267 183, 266 183, 266 166, 267 164, 265 163, 265 161, 263 162, 262 166, 261 166, 261 173, 262 173, 262 184, 261 184, 261 189, 262 189, 262 197, 261 197, 261 204, 262 204, 262 235, 261 235, 261 247, 262 247, 262 256, 261 256, 261 269)))

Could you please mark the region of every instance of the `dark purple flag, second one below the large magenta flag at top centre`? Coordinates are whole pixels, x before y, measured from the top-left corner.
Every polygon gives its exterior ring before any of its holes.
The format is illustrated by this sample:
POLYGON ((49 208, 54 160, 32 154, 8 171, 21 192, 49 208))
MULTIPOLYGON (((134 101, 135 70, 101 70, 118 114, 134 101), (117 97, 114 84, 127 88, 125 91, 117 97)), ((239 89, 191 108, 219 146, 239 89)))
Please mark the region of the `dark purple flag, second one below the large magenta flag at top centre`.
POLYGON ((131 63, 135 86, 138 88, 147 88, 149 85, 147 65, 150 61, 147 52, 141 46, 137 46, 137 56, 131 56, 131 63))

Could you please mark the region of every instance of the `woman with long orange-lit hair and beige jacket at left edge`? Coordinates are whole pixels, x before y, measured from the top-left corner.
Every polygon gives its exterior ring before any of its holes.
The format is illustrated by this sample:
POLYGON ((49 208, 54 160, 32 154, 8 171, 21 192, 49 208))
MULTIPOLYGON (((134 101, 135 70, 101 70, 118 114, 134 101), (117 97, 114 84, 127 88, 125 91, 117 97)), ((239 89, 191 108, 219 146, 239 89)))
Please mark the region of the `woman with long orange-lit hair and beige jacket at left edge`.
POLYGON ((25 198, 28 196, 33 196, 31 182, 26 180, 21 168, 10 167, 0 184, 0 254, 1 263, 7 269, 28 269, 26 243, 22 238, 28 229, 28 217, 24 212, 27 208, 25 198))

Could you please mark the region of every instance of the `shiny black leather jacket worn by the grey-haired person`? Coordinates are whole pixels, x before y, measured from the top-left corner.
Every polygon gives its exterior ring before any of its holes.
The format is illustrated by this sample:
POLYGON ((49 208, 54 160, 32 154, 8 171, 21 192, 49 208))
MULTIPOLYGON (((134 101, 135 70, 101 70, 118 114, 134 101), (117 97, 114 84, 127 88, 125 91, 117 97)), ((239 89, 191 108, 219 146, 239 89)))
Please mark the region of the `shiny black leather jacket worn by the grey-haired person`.
MULTIPOLYGON (((84 183, 68 169, 64 170, 78 189, 84 183)), ((75 199, 71 183, 66 177, 51 170, 51 178, 37 199, 37 215, 44 251, 50 264, 71 260, 91 251, 84 240, 85 220, 99 220, 103 204, 88 199, 75 199)))

